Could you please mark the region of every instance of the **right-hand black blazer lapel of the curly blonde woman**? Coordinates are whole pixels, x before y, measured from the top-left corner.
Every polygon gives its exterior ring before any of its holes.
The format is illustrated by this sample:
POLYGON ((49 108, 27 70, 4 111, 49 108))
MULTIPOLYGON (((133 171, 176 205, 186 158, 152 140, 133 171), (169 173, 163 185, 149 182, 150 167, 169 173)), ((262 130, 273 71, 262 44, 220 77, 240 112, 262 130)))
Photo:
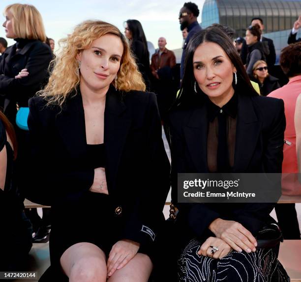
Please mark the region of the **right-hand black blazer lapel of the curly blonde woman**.
POLYGON ((106 178, 109 194, 115 191, 120 158, 130 125, 131 118, 127 115, 126 106, 122 101, 122 94, 110 87, 106 96, 104 117, 106 178))

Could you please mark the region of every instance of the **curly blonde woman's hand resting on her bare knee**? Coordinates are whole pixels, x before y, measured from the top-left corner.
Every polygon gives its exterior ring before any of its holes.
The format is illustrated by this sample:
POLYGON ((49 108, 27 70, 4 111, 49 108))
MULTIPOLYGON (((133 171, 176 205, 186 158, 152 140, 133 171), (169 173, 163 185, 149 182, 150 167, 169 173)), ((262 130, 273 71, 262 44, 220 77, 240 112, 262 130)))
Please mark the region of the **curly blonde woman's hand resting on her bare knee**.
POLYGON ((139 243, 125 239, 114 244, 107 262, 108 277, 112 276, 117 269, 120 270, 125 266, 136 255, 139 247, 139 243))

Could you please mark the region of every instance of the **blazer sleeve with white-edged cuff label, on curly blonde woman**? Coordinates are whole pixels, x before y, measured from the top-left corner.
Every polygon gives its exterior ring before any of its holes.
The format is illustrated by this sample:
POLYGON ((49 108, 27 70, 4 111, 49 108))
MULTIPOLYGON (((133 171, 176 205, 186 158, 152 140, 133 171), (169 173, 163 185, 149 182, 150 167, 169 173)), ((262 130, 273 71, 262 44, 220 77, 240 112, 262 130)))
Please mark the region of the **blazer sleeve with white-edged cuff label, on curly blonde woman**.
POLYGON ((140 248, 152 246, 160 224, 164 222, 163 208, 170 189, 170 164, 162 141, 162 128, 156 97, 150 93, 147 109, 147 146, 144 179, 136 205, 128 217, 123 237, 141 244, 140 248))

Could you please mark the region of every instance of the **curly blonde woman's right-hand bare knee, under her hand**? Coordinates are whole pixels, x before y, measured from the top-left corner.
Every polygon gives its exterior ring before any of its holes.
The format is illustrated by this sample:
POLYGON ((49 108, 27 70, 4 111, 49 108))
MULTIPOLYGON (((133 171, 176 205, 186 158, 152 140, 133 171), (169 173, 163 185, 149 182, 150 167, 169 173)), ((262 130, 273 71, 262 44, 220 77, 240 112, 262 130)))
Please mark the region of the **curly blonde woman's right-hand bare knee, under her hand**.
POLYGON ((123 268, 116 270, 108 282, 148 282, 151 270, 150 257, 137 253, 123 268))

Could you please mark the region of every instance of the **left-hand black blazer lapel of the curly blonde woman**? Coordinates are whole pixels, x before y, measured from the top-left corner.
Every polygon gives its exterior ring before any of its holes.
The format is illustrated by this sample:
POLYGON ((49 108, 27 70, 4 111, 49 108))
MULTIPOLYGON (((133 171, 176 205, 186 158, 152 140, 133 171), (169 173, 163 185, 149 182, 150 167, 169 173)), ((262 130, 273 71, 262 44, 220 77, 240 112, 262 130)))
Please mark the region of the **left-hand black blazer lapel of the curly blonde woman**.
POLYGON ((67 98, 64 108, 57 114, 56 127, 71 157, 84 158, 87 154, 86 126, 79 90, 74 97, 67 98))

